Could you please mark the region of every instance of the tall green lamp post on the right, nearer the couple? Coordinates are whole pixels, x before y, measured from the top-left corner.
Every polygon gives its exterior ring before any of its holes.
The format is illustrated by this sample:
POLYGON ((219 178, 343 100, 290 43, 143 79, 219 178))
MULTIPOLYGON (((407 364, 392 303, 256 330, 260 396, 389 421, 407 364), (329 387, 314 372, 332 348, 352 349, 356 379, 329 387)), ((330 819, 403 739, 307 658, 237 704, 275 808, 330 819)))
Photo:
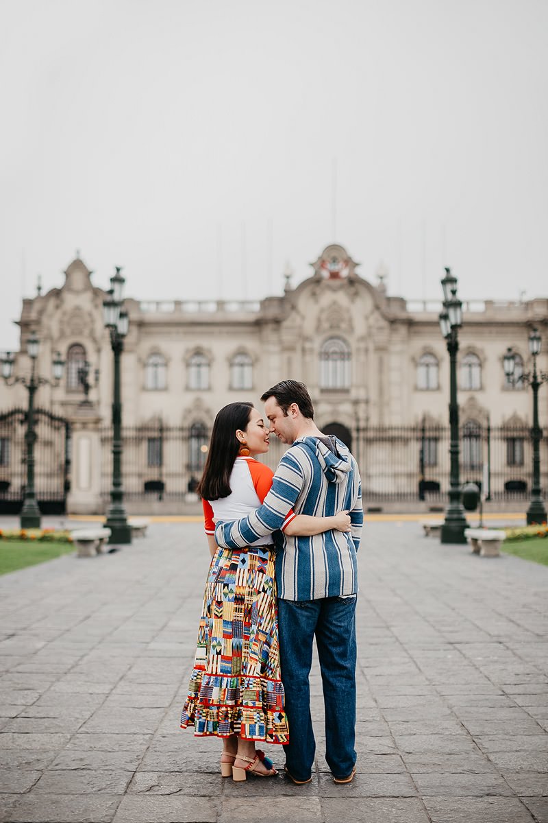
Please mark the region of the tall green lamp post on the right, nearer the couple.
POLYGON ((440 314, 440 328, 447 351, 449 351, 449 427, 451 460, 449 476, 449 505, 445 509, 445 520, 441 527, 442 543, 466 543, 464 529, 467 527, 461 502, 461 487, 458 468, 458 402, 457 402, 457 353, 458 329, 463 325, 463 304, 457 297, 457 278, 451 269, 445 269, 441 281, 444 290, 444 310, 440 314))

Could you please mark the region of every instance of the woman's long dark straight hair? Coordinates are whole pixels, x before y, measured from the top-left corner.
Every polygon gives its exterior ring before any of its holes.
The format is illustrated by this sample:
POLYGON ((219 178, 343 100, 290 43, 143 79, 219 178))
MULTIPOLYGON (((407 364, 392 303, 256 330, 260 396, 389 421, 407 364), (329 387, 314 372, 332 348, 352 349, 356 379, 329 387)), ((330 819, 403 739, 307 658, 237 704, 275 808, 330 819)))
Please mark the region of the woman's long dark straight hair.
POLYGON ((219 497, 228 497, 232 491, 230 473, 241 446, 236 431, 246 430, 252 408, 253 403, 249 402, 228 403, 217 413, 204 473, 196 488, 204 500, 219 500, 219 497))

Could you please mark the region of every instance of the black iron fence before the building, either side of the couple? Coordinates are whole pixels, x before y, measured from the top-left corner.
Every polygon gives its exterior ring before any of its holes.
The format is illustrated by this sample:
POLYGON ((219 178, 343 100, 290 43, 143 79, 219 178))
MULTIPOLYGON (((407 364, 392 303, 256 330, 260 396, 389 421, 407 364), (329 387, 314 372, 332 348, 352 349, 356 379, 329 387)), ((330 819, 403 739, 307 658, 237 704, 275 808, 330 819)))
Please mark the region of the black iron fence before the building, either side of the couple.
MULTIPOLYGON (((205 425, 145 425, 122 431, 123 486, 128 499, 185 500, 196 489, 207 456, 205 425)), ((112 430, 102 441, 102 494, 112 480, 112 430)), ((275 468, 283 444, 271 440, 265 463, 275 468)), ((376 500, 446 500, 449 427, 376 425, 352 431, 352 451, 361 470, 363 497, 376 500)), ((542 486, 548 486, 548 444, 541 440, 542 486)), ((532 480, 532 444, 527 426, 467 423, 460 436, 460 475, 490 500, 527 500, 532 480)))

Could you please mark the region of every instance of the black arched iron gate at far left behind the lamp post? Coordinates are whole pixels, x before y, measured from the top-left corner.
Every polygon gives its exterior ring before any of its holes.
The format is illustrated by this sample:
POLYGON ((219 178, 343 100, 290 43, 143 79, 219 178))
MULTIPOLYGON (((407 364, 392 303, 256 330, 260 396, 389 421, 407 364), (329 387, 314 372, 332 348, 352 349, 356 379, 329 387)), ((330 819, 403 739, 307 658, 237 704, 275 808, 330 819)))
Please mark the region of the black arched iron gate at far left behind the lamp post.
MULTIPOLYGON (((64 514, 71 477, 71 424, 35 409, 35 491, 42 514, 64 514)), ((0 514, 19 514, 26 483, 27 412, 0 414, 0 514)))

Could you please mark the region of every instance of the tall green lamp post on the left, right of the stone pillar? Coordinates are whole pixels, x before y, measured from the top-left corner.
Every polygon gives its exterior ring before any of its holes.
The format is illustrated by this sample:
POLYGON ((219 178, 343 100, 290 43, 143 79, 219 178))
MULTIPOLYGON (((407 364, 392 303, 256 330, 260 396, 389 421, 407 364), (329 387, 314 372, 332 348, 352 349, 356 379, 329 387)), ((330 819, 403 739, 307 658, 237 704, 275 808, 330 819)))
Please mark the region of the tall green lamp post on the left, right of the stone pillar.
POLYGON ((123 505, 122 488, 122 398, 120 388, 120 357, 124 350, 124 337, 129 328, 127 312, 122 311, 122 294, 125 278, 121 268, 110 278, 111 288, 103 302, 104 324, 110 333, 110 345, 114 354, 113 377, 113 486, 110 491, 110 507, 105 526, 110 529, 109 543, 131 543, 131 527, 127 523, 123 505))

